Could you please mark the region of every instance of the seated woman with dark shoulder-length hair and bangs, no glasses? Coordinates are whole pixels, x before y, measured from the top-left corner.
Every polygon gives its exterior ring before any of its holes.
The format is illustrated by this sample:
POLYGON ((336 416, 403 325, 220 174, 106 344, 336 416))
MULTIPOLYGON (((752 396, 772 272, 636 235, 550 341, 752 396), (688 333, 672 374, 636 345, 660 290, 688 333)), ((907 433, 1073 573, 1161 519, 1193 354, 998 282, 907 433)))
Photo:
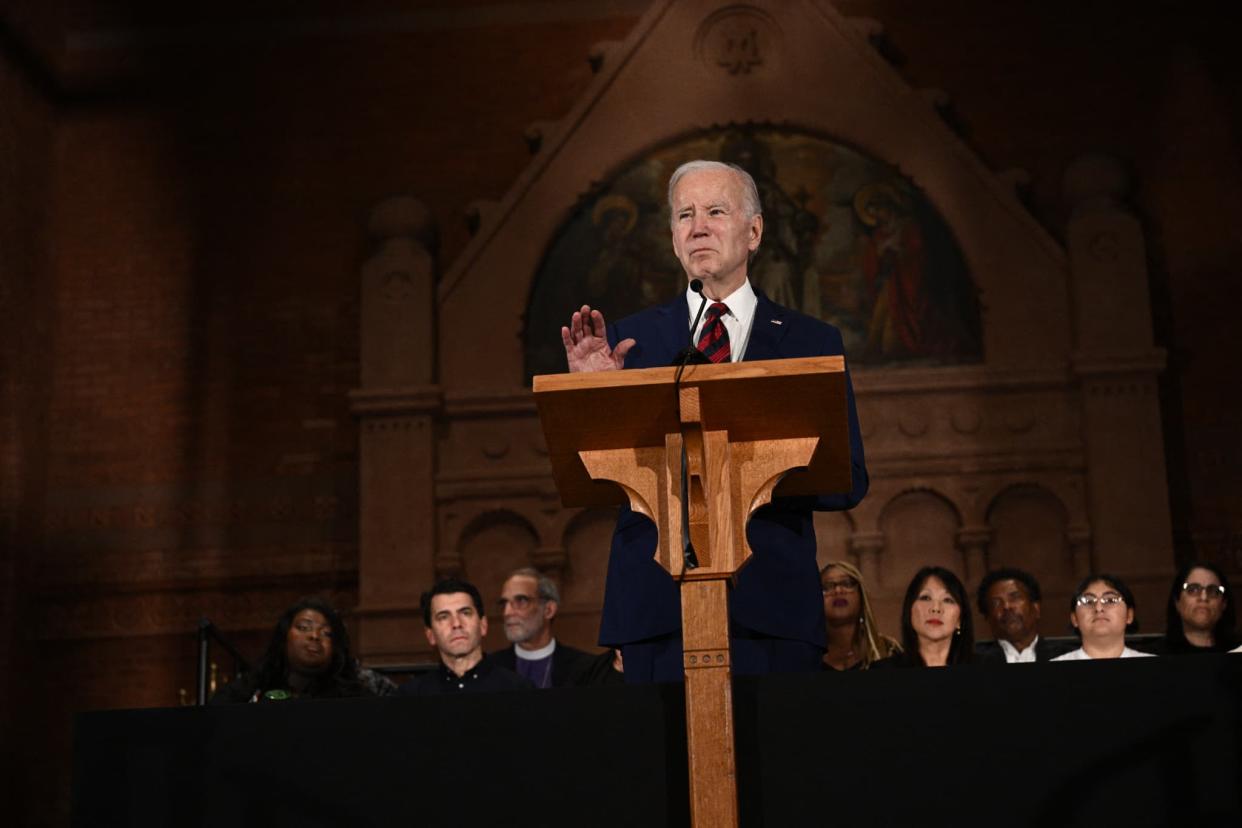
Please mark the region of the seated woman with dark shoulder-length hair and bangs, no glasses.
POLYGON ((975 628, 966 587, 943 566, 914 574, 902 601, 902 649, 876 667, 946 667, 971 660, 975 628))

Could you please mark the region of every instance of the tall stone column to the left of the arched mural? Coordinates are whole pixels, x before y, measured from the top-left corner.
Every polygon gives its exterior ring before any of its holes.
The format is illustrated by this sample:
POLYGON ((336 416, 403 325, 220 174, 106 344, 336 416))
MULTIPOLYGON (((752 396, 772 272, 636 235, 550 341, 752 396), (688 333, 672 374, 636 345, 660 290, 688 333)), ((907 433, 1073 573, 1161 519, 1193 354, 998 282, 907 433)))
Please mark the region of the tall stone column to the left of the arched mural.
POLYGON ((361 268, 358 654, 409 662, 426 650, 419 596, 436 550, 435 232, 409 196, 374 207, 374 252, 361 268))

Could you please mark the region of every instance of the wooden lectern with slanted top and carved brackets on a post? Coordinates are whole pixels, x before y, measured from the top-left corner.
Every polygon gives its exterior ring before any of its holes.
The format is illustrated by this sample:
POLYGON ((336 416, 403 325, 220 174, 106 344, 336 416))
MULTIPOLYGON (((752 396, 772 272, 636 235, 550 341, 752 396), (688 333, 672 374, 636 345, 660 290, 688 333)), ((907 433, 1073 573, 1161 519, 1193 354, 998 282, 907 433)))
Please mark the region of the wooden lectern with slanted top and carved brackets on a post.
POLYGON ((728 582, 774 492, 850 490, 845 358, 691 365, 679 386, 676 375, 544 375, 534 395, 564 504, 628 498, 660 530, 656 557, 681 582, 693 823, 735 826, 728 582))

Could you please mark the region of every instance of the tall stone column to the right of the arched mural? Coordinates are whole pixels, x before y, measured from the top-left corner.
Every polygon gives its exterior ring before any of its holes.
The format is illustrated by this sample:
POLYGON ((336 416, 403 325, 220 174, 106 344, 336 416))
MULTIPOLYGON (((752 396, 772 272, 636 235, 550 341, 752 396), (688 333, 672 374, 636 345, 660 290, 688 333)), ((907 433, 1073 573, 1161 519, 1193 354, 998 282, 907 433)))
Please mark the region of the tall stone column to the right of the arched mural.
POLYGON ((1072 367, 1082 389, 1093 564, 1130 582, 1151 628, 1174 565, 1156 395, 1165 351, 1153 341, 1146 245, 1128 190, 1110 158, 1082 158, 1066 173, 1072 367))

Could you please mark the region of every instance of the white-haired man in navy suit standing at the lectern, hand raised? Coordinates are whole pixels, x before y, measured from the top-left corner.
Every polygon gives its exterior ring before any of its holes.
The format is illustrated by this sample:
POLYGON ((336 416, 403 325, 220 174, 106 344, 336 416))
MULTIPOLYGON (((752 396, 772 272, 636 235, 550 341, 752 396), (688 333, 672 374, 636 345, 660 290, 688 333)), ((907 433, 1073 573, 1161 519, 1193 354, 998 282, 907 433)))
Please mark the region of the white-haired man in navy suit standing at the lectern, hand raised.
MULTIPOLYGON (((693 331, 699 305, 689 288, 673 302, 605 324, 590 305, 574 313, 561 340, 570 371, 671 365, 693 338, 715 362, 842 354, 841 333, 758 293, 746 268, 763 238, 754 179, 732 164, 689 161, 668 181, 673 252, 688 281, 699 279, 710 303, 693 331)), ((853 390, 850 408, 852 485, 845 494, 777 498, 746 526, 753 559, 729 595, 737 674, 811 672, 823 653, 823 600, 815 565, 812 510, 850 509, 867 493, 853 390)), ((681 596, 655 560, 656 525, 621 508, 609 556, 600 644, 620 647, 627 682, 676 682, 682 672, 681 596)))

